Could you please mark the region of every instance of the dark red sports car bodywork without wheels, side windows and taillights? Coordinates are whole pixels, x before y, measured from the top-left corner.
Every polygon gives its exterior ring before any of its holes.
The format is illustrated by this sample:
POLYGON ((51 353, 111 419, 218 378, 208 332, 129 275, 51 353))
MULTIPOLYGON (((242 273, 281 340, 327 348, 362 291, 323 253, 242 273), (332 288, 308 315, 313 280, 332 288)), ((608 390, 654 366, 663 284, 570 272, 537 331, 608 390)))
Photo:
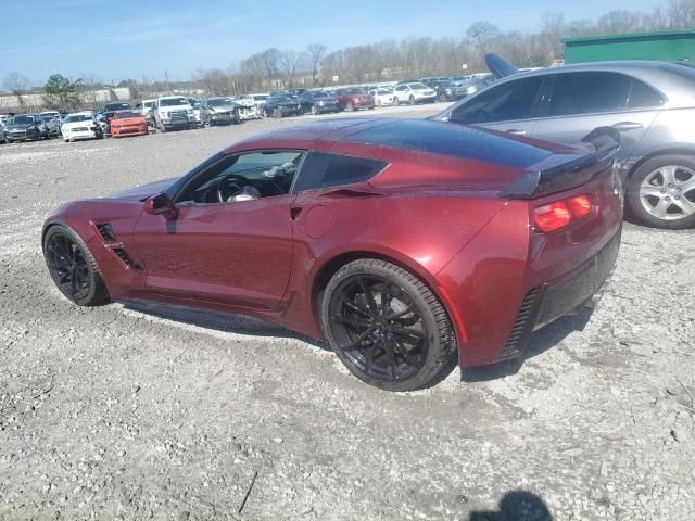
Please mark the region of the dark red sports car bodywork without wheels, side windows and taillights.
POLYGON ((179 180, 68 203, 43 232, 75 230, 114 300, 243 313, 316 339, 317 297, 331 275, 355 258, 387 259, 432 290, 454 325, 459 364, 478 366, 519 355, 535 328, 602 287, 618 254, 621 198, 612 157, 594 149, 437 122, 342 118, 238 142, 179 180), (285 149, 388 166, 356 185, 173 207, 168 218, 146 211, 148 198, 175 200, 224 154, 285 149), (589 214, 539 230, 536 208, 580 195, 592 201, 589 214))

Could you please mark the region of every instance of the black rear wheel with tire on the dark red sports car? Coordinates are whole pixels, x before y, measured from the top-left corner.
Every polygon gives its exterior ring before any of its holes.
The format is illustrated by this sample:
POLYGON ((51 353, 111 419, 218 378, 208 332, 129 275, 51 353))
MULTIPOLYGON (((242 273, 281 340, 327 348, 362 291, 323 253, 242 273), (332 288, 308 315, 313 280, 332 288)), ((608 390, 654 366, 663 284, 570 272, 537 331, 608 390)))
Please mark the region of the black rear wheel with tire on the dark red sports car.
POLYGON ((384 260, 362 258, 340 268, 323 293, 320 321, 348 369, 387 391, 430 385, 457 355, 437 296, 418 277, 384 260))

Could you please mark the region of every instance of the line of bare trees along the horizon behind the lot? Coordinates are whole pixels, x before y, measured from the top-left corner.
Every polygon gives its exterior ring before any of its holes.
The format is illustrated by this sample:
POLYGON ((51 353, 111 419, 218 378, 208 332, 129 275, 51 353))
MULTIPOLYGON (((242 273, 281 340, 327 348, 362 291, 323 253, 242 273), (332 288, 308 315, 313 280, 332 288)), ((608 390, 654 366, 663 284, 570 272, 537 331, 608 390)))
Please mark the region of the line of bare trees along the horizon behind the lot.
MULTIPOLYGON (((648 30, 695 28, 695 0, 668 0, 652 12, 611 11, 596 21, 566 21, 563 14, 547 13, 535 33, 503 31, 490 22, 476 22, 460 37, 406 38, 329 52, 324 43, 305 49, 265 49, 227 69, 199 69, 190 81, 173 82, 168 73, 162 80, 127 79, 137 96, 148 92, 203 90, 208 96, 230 96, 294 87, 326 87, 428 76, 460 76, 485 71, 484 55, 498 52, 518 67, 546 66, 564 55, 563 38, 648 30)), ((17 98, 30 90, 29 80, 10 73, 3 87, 17 98)), ((43 87, 48 107, 74 109, 96 102, 96 92, 108 87, 97 75, 83 74, 76 80, 52 75, 43 87)))

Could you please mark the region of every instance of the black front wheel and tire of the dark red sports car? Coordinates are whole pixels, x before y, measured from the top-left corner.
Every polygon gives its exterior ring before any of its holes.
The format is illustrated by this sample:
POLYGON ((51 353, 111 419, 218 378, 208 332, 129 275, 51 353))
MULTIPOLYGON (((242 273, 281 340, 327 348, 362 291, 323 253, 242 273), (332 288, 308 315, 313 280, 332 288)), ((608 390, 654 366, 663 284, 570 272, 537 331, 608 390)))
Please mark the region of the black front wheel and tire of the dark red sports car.
POLYGON ((97 306, 109 300, 94 257, 71 228, 62 225, 49 228, 43 238, 43 257, 58 289, 78 306, 97 306))

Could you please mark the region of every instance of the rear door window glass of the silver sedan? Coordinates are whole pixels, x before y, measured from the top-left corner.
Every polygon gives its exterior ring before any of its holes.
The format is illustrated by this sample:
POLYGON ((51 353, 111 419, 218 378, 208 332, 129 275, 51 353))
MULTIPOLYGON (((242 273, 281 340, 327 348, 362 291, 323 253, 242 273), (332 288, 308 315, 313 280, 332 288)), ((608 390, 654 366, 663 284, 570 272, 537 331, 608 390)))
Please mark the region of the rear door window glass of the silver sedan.
POLYGON ((626 109, 632 78, 616 73, 567 73, 555 76, 548 116, 595 114, 626 109))

